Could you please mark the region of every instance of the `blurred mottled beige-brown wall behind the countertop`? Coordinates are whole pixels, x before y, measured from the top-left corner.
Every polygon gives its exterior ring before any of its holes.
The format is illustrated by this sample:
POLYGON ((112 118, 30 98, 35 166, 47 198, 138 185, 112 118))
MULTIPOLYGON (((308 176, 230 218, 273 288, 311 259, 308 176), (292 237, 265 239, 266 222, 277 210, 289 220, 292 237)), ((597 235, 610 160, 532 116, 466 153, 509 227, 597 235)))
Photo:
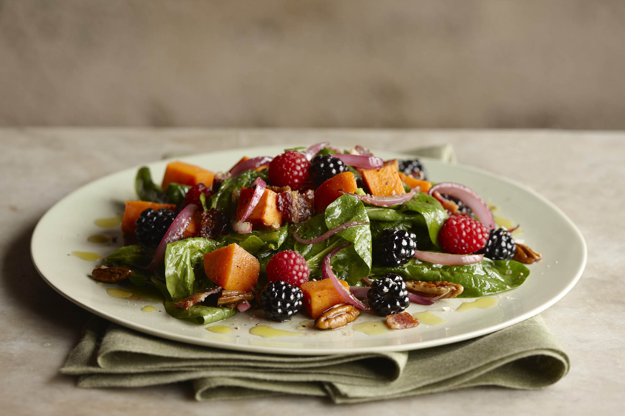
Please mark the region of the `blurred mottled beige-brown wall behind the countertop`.
POLYGON ((0 0, 0 125, 625 128, 625 1, 0 0))

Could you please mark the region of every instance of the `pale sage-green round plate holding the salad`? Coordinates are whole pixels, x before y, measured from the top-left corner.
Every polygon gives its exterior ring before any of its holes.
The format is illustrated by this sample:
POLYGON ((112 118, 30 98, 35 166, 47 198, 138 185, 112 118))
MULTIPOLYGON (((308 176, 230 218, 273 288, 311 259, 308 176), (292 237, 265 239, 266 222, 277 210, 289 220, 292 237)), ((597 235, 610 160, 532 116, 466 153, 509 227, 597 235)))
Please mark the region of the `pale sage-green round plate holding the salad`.
MULTIPOLYGON (((275 155, 286 146, 257 147, 245 151, 233 150, 181 157, 183 161, 207 167, 213 171, 229 169, 241 156, 275 155)), ((384 159, 409 155, 376 152, 384 159)), ((431 310, 445 319, 441 325, 421 324, 414 329, 387 331, 367 335, 346 329, 322 332, 303 327, 309 321, 298 315, 291 322, 271 323, 258 314, 237 314, 212 325, 231 327, 229 334, 216 334, 203 325, 195 325, 169 316, 158 300, 133 296, 129 299, 111 297, 106 287, 98 285, 88 275, 97 262, 79 259, 74 251, 96 252, 103 256, 122 245, 119 227, 104 229, 94 220, 121 214, 122 202, 136 199, 134 176, 136 168, 112 174, 81 187, 58 202, 39 220, 32 235, 31 255, 37 270, 56 291, 86 310, 108 320, 147 334, 191 344, 224 349, 246 350, 273 354, 337 354, 382 350, 411 350, 449 344, 471 339, 502 329, 538 314, 554 304, 577 282, 586 264, 586 243, 561 210, 531 189, 503 177, 466 166, 449 166, 427 160, 429 176, 434 181, 454 181, 466 184, 487 202, 499 207, 502 215, 521 224, 524 234, 519 238, 541 252, 544 260, 529 265, 531 274, 517 289, 494 295, 497 305, 491 309, 455 309, 472 299, 439 300, 432 307, 411 305, 408 312, 431 310), (117 244, 88 242, 89 235, 118 236, 117 244), (146 305, 155 312, 143 312, 146 305), (306 322, 304 322, 306 321, 306 322), (263 338, 249 334, 256 325, 271 325, 290 330, 299 336, 263 338), (299 327, 299 329, 298 329, 299 327)), ((163 177, 167 161, 149 164, 153 177, 163 177)), ((372 314, 362 314, 357 323, 376 320, 372 314)))

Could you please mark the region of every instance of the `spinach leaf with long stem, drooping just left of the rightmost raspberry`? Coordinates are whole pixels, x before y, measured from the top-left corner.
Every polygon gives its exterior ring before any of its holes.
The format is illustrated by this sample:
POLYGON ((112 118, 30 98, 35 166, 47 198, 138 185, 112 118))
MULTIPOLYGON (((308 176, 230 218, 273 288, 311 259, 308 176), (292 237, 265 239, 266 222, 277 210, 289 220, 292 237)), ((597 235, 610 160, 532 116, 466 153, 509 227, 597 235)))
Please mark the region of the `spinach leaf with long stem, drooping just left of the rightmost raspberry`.
POLYGON ((438 246, 438 233, 447 219, 447 211, 436 198, 419 192, 410 201, 395 207, 366 207, 369 219, 386 222, 412 222, 413 227, 427 230, 432 244, 438 246))

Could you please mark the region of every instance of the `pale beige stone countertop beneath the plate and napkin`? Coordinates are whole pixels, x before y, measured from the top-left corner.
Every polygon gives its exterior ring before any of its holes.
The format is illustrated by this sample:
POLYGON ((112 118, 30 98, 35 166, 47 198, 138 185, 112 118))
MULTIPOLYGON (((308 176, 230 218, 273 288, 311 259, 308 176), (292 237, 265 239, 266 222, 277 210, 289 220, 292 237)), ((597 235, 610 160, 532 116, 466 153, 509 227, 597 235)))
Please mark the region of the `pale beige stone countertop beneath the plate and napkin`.
POLYGON ((624 387, 625 132, 207 129, 0 129, 0 406, 6 414, 508 415, 616 414, 624 387), (187 384, 78 389, 59 367, 88 319, 48 287, 29 254, 41 215, 79 186, 155 161, 166 152, 209 152, 329 140, 373 149, 454 146, 462 164, 509 176, 560 207, 588 245, 577 285, 542 316, 571 358, 571 371, 542 390, 480 387, 336 406, 307 397, 195 402, 187 384))

